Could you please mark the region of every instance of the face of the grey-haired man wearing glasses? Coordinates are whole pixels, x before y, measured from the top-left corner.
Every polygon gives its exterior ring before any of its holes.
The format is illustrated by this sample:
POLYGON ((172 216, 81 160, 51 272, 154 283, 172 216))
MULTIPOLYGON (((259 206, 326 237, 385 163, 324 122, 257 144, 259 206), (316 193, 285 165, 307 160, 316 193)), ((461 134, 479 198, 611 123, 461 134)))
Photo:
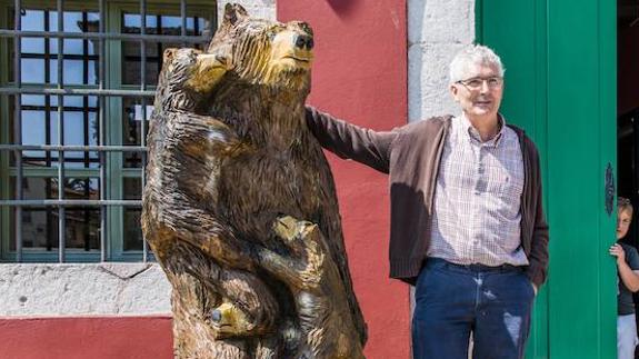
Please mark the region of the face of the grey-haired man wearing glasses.
POLYGON ((450 93, 469 119, 490 119, 499 111, 503 79, 496 66, 472 64, 462 81, 450 86, 450 93))

